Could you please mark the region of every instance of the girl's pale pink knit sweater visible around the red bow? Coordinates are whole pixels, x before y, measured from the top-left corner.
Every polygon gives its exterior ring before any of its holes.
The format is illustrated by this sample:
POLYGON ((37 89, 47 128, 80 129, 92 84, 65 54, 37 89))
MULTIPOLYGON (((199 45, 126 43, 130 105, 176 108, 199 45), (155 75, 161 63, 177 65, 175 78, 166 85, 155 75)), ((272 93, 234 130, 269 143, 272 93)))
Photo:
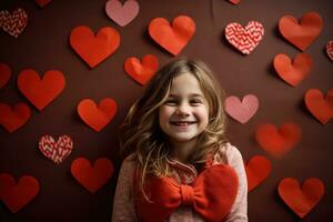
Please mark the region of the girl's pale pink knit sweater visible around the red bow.
MULTIPOLYGON (((225 222, 248 222, 248 182, 244 164, 240 151, 228 143, 221 147, 213 158, 213 165, 226 163, 232 167, 239 175, 239 191, 225 222)), ((174 179, 182 184, 191 183, 198 175, 193 165, 183 164, 170 160, 174 179)), ((135 162, 127 158, 121 167, 114 202, 112 222, 139 221, 135 213, 133 200, 133 173, 137 169, 135 162)), ((153 213, 153 212, 152 212, 153 213)), ((167 220, 168 222, 203 222, 204 220, 190 206, 180 206, 167 220)))

